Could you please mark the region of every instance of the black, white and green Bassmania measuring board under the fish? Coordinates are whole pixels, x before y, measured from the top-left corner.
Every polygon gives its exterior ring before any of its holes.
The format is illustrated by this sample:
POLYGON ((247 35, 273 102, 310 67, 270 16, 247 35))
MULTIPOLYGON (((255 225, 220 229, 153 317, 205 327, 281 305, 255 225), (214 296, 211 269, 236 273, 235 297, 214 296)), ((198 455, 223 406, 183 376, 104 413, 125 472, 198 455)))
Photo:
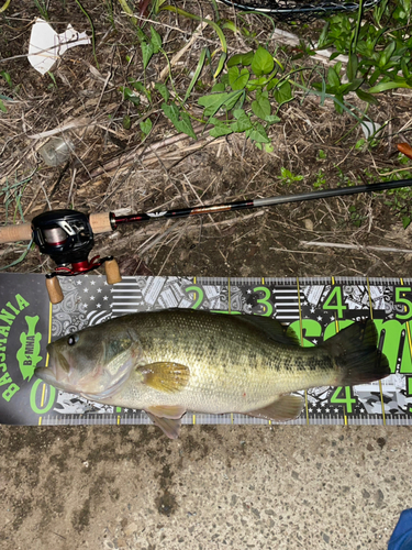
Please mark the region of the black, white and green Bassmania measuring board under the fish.
MULTIPOLYGON (((294 425, 412 425, 412 278, 59 277, 63 302, 51 306, 43 275, 0 274, 0 424, 143 425, 140 410, 96 404, 33 376, 60 336, 135 311, 194 308, 261 315, 291 324, 316 345, 354 320, 371 318, 392 374, 354 387, 300 392, 294 425)), ((242 353, 242 349, 240 349, 242 353)), ((268 424, 244 415, 188 413, 182 424, 268 424)))

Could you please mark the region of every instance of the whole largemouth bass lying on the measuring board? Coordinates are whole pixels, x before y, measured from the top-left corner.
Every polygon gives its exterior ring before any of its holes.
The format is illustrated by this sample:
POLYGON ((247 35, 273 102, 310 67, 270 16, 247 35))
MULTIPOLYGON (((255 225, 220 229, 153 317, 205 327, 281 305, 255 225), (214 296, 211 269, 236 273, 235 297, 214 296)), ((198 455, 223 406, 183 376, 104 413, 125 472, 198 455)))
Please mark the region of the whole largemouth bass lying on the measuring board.
POLYGON ((47 351, 49 366, 36 376, 93 402, 143 409, 169 438, 187 410, 283 421, 304 405, 292 392, 390 374, 370 320, 302 348, 267 317, 174 309, 111 319, 47 351))

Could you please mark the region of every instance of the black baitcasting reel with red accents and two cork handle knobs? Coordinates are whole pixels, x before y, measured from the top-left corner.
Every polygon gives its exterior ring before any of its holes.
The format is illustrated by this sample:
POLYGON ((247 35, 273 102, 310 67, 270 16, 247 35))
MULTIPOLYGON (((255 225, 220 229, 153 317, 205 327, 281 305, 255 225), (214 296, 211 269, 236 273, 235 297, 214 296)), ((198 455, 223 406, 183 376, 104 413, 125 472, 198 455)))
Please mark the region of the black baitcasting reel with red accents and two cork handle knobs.
POLYGON ((76 210, 44 212, 32 220, 32 231, 40 252, 49 255, 57 265, 54 272, 46 275, 46 287, 52 304, 60 302, 64 297, 57 275, 82 275, 104 264, 109 285, 122 280, 113 256, 94 256, 89 261, 89 253, 94 245, 89 216, 76 210))

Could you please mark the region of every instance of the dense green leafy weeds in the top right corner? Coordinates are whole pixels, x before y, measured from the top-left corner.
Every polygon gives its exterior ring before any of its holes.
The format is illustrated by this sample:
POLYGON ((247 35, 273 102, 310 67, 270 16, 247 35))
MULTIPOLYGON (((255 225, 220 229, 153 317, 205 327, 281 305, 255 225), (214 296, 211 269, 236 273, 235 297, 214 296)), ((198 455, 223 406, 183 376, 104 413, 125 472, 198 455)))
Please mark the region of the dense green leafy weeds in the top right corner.
MULTIPOLYGON (((382 0, 375 8, 371 20, 364 23, 361 3, 356 19, 346 14, 331 18, 318 47, 333 45, 336 52, 331 61, 339 54, 348 54, 349 62, 345 74, 342 63, 329 68, 325 91, 341 102, 344 96, 355 91, 363 101, 377 105, 377 94, 412 88, 410 11, 411 0, 399 0, 394 10, 389 0, 382 0)), ((321 90, 323 84, 315 82, 314 86, 321 90)), ((342 112, 338 103, 335 103, 335 109, 342 112)))

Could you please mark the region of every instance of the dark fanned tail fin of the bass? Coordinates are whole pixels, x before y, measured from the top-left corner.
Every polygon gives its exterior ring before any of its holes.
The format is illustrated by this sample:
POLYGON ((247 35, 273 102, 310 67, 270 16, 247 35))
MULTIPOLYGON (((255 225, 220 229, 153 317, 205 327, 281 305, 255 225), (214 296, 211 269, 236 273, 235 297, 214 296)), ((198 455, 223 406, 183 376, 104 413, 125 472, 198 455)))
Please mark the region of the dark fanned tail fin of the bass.
POLYGON ((355 386, 389 376, 388 359, 377 344, 378 332, 371 319, 356 321, 323 342, 338 370, 335 385, 355 386))

